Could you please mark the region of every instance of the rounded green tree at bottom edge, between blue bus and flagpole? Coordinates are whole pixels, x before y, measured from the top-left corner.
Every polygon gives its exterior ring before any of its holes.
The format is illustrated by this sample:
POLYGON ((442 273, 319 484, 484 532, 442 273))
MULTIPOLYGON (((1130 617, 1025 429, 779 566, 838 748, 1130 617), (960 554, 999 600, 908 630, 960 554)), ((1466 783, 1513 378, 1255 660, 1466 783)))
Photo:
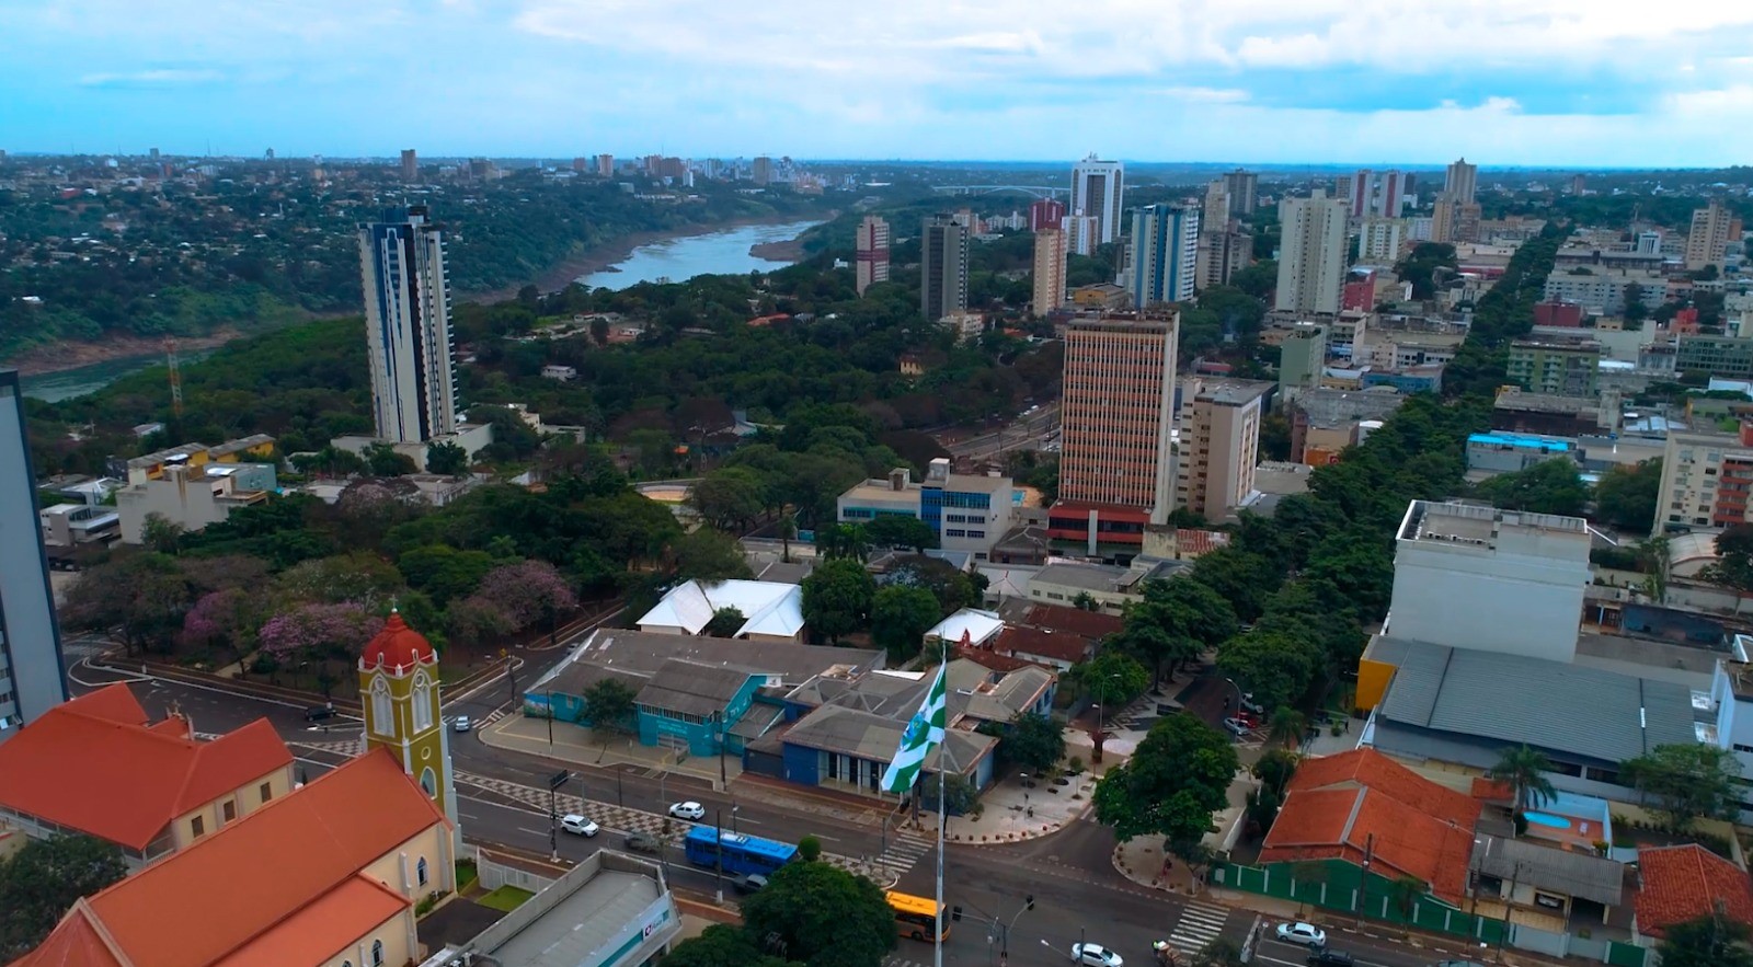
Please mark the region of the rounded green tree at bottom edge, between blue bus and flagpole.
POLYGON ((831 864, 785 864, 743 902, 743 932, 808 967, 878 967, 896 944, 884 892, 831 864))

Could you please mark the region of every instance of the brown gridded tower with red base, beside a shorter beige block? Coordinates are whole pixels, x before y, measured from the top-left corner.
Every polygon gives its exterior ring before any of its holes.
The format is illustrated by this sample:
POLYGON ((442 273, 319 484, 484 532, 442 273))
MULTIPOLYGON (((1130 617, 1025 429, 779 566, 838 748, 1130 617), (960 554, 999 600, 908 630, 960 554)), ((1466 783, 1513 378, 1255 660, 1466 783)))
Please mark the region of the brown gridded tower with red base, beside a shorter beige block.
POLYGON ((1059 406, 1059 499, 1175 510, 1175 310, 1073 319, 1059 406))

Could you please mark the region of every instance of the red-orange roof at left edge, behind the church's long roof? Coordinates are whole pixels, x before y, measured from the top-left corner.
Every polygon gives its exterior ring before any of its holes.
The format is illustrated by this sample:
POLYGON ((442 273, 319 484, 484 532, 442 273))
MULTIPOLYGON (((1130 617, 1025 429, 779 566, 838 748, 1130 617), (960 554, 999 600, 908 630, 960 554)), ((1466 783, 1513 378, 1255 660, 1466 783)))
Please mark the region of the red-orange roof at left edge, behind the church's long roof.
POLYGON ((265 718, 210 743, 172 722, 149 725, 126 685, 56 706, 0 745, 0 804, 144 850, 177 816, 293 762, 265 718))

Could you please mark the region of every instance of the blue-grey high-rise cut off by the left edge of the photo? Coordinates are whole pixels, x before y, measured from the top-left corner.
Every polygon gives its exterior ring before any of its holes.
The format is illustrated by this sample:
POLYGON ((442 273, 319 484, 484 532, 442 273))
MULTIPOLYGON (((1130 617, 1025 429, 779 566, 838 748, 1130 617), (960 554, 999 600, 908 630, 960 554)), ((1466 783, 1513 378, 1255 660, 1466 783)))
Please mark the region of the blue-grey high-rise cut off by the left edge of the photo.
POLYGON ((0 741, 67 701, 18 370, 0 370, 0 741))

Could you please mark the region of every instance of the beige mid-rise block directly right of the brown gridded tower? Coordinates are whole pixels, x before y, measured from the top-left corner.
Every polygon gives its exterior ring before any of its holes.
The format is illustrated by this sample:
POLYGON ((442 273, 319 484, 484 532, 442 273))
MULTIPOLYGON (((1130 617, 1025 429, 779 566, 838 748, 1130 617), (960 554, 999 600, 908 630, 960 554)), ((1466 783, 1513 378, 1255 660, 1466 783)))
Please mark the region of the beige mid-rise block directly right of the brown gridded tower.
POLYGON ((1253 494, 1260 398, 1271 384, 1196 378, 1182 389, 1175 506, 1220 519, 1253 494))

